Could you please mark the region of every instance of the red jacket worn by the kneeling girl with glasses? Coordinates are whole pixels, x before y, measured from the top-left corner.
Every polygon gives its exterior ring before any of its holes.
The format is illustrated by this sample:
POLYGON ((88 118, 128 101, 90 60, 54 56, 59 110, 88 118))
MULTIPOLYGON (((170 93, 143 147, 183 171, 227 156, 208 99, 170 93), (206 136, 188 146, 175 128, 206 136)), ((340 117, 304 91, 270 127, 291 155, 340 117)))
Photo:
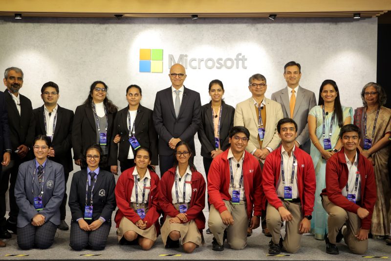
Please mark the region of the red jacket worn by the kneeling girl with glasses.
MULTIPOLYGON (((159 184, 159 205, 166 215, 176 216, 180 212, 173 205, 173 196, 171 190, 174 186, 175 167, 167 170, 159 184)), ((190 207, 186 211, 187 220, 194 219, 198 230, 202 231, 205 228, 205 216, 202 210, 205 208, 205 180, 201 173, 192 171, 192 198, 190 199, 190 207)), ((181 221, 182 222, 182 221, 181 221)), ((182 222, 183 223, 183 222, 182 222)))

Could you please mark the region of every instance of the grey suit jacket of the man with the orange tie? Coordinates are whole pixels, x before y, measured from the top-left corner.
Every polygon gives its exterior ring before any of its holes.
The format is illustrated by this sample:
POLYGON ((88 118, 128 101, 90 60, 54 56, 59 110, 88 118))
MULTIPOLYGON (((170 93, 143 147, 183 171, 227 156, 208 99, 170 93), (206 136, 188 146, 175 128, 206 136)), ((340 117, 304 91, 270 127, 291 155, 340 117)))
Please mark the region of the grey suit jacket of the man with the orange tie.
MULTIPOLYGON (((271 99, 281 104, 284 118, 290 118, 288 87, 272 94, 271 99)), ((297 123, 296 140, 301 144, 300 148, 308 154, 311 143, 309 140, 307 119, 309 110, 311 110, 315 105, 315 94, 299 85, 296 95, 295 110, 293 111, 293 120, 297 123)))

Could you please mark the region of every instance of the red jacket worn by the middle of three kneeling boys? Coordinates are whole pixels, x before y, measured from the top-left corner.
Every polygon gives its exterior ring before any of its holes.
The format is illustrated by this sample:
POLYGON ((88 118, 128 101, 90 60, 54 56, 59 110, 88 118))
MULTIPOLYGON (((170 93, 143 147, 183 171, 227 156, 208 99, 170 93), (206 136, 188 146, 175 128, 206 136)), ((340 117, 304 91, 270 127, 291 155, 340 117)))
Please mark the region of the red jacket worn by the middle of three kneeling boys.
MULTIPOLYGON (((302 211, 304 215, 310 215, 314 209, 316 190, 314 164, 311 157, 298 147, 295 148, 293 155, 297 162, 297 189, 302 211)), ((282 207, 281 199, 276 193, 277 182, 281 176, 281 145, 267 155, 262 174, 262 187, 267 201, 276 209, 282 207)))

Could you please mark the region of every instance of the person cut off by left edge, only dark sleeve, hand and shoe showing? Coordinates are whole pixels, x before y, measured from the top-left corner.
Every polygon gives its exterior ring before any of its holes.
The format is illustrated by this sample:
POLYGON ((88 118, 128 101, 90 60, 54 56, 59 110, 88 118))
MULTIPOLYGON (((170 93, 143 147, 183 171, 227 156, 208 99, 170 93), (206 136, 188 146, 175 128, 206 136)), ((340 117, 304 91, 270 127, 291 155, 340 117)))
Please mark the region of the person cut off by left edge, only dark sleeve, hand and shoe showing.
MULTIPOLYGON (((0 92, 0 152, 2 153, 3 151, 4 153, 0 165, 0 176, 1 166, 8 166, 11 160, 11 140, 9 139, 8 113, 7 107, 5 106, 4 93, 0 92)), ((9 238, 8 235, 4 235, 4 231, 5 230, 0 227, 0 238, 9 238)), ((0 240, 0 247, 4 246, 6 246, 6 243, 0 240)))

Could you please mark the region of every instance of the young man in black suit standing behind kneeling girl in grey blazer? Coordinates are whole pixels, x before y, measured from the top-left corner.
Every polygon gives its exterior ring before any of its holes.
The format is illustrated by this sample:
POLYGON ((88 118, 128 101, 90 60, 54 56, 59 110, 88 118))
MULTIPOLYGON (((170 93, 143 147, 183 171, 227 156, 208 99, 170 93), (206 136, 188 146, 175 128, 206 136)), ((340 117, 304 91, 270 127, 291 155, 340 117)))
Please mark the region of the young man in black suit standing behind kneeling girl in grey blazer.
POLYGON ((52 139, 48 157, 50 160, 60 163, 64 166, 65 174, 65 194, 60 206, 60 225, 61 230, 68 230, 69 227, 65 222, 66 206, 66 182, 68 181, 69 172, 73 170, 71 137, 73 111, 60 107, 57 104, 60 90, 56 83, 47 82, 41 88, 41 98, 44 105, 33 110, 35 118, 35 136, 46 135, 52 139))

